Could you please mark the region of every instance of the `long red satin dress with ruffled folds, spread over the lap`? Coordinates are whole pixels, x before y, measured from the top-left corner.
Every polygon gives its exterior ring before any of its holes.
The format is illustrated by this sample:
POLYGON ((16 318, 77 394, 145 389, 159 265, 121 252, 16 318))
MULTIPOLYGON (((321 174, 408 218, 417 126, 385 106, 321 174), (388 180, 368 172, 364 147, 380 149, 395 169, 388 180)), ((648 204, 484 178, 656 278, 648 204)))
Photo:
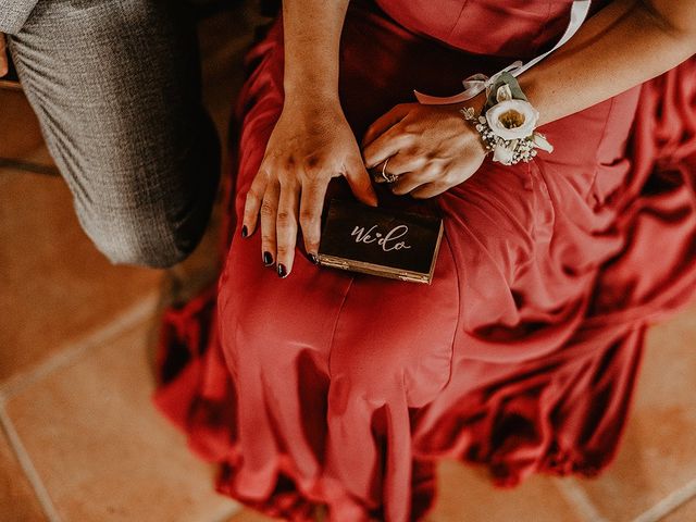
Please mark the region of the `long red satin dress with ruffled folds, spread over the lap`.
MULTIPOLYGON (((597 2, 601 3, 601 2, 597 2)), ((340 99, 360 139, 412 90, 549 49, 571 1, 350 2, 340 99)), ((600 5, 594 8, 594 12, 600 5)), ((625 425, 647 325, 696 286, 696 62, 540 128, 531 163, 488 158, 434 204, 432 285, 320 269, 279 279, 239 216, 283 105, 278 15, 246 57, 227 179, 224 269, 164 316, 154 400, 219 492, 270 515, 421 520, 434 460, 593 475, 625 425)), ((607 78, 610 80, 610 78, 607 78)), ((572 94, 568 94, 572 96, 572 94)), ((343 181, 336 190, 346 190, 343 181)))

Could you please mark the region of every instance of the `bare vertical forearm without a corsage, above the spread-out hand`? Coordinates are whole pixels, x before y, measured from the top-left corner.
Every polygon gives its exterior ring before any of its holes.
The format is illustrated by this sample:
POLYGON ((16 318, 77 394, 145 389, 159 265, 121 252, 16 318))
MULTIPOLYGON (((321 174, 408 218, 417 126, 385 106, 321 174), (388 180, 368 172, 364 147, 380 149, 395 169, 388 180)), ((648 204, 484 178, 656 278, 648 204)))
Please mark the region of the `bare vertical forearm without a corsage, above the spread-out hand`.
POLYGON ((284 0, 286 102, 338 100, 338 47, 349 0, 284 0))

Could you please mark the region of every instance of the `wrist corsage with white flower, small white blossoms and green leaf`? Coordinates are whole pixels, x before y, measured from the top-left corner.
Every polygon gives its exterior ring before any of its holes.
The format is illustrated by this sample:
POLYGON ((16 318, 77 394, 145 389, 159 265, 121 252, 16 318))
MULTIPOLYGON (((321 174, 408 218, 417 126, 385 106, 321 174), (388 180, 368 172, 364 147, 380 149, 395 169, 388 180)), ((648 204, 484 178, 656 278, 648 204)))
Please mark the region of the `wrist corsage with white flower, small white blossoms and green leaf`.
POLYGON ((514 76, 508 72, 500 74, 486 89, 486 97, 480 115, 472 107, 459 112, 478 132, 486 150, 493 152, 493 161, 513 165, 531 161, 536 149, 554 150, 544 135, 534 130, 539 113, 527 101, 514 76))

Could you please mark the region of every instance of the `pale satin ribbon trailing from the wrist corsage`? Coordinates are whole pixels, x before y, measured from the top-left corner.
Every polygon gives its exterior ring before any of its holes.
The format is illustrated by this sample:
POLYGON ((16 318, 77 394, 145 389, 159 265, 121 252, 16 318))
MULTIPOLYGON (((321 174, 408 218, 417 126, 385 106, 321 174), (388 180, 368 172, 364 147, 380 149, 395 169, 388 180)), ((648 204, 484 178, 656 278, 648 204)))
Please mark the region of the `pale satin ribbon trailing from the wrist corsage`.
POLYGON ((495 83, 498 80, 498 77, 502 73, 510 73, 512 76, 519 76, 527 69, 536 65, 538 62, 548 57, 556 49, 564 45, 568 40, 570 40, 580 26, 583 25, 585 18, 587 17, 587 13, 589 12, 589 5, 592 4, 592 0, 575 0, 570 10, 570 22, 568 27, 566 28, 566 33, 561 36, 561 39, 558 40, 556 46, 550 51, 546 51, 544 54, 536 57, 533 60, 530 60, 526 64, 522 64, 521 60, 518 60, 514 63, 511 63, 502 71, 497 72, 493 76, 488 77, 485 74, 474 74, 469 76, 467 79, 462 82, 464 85, 464 90, 455 96, 439 97, 439 96, 428 96, 418 90, 413 90, 415 98, 418 101, 424 105, 444 105, 447 103, 458 103, 460 101, 467 101, 472 99, 477 94, 482 92, 484 89, 492 88, 495 83))

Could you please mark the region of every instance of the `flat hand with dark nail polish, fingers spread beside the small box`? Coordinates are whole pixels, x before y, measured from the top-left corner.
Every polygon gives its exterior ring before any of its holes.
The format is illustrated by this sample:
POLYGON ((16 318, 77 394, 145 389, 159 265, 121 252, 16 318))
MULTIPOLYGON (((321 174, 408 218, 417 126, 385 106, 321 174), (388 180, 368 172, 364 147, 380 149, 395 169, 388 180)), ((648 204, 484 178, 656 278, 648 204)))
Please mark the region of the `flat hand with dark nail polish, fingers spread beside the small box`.
POLYGON ((293 270, 298 223, 308 256, 316 262, 321 215, 332 177, 345 176, 356 198, 377 204, 356 137, 337 100, 286 99, 245 203, 241 235, 257 228, 265 265, 278 276, 293 270))

